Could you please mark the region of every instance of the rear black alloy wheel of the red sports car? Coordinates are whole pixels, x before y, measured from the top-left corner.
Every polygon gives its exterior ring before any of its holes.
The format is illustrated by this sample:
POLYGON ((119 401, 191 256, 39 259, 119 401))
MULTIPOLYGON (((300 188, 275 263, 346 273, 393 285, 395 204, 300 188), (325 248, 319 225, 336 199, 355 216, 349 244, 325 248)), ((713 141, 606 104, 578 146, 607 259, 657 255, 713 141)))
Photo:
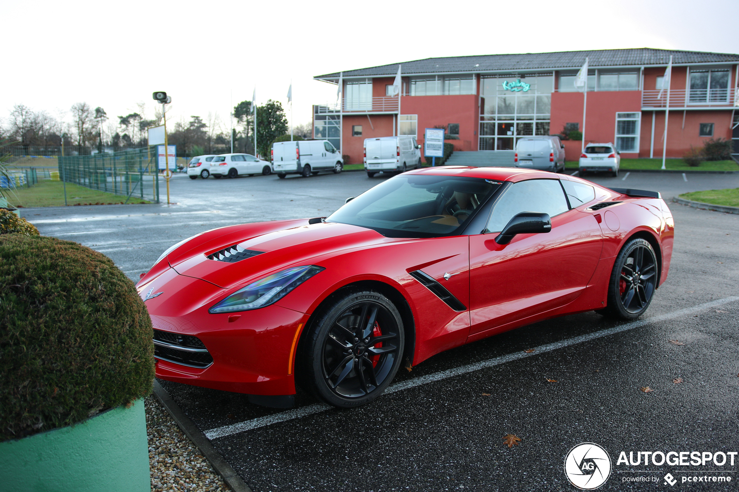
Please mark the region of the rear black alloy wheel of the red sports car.
POLYGON ((657 256, 644 239, 624 245, 613 264, 608 304, 598 312, 616 319, 636 319, 652 302, 658 282, 657 256))

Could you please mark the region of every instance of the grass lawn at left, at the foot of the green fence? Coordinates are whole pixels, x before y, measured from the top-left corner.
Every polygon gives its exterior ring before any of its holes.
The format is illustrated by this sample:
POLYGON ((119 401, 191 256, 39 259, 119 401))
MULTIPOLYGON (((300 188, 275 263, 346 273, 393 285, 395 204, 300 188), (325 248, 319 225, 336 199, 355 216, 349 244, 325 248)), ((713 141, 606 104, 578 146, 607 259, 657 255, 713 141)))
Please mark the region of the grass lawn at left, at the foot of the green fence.
MULTIPOLYGON (((41 179, 38 184, 30 188, 17 190, 3 190, 7 198, 16 207, 64 207, 64 187, 61 181, 41 179)), ((104 191, 90 190, 78 184, 67 183, 67 204, 120 204, 126 201, 125 196, 113 195, 104 191)), ((129 204, 148 204, 149 201, 132 196, 129 204)))

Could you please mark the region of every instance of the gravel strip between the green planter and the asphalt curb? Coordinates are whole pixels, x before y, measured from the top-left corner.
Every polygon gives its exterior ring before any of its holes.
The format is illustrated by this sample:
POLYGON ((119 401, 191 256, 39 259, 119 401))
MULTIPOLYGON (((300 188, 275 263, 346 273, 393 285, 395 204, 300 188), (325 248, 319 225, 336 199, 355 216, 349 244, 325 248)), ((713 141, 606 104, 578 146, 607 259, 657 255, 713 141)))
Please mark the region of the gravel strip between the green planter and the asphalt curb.
POLYGON ((231 491, 154 395, 146 397, 151 492, 231 491))

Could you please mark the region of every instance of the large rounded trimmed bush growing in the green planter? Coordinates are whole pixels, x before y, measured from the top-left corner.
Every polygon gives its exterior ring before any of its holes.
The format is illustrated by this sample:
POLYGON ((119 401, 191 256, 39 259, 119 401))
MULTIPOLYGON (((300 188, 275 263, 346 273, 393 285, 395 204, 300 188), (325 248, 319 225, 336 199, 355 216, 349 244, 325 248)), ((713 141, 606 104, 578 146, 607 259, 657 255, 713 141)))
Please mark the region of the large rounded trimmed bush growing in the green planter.
POLYGON ((108 257, 72 241, 0 235, 0 289, 0 441, 151 392, 151 319, 108 257))

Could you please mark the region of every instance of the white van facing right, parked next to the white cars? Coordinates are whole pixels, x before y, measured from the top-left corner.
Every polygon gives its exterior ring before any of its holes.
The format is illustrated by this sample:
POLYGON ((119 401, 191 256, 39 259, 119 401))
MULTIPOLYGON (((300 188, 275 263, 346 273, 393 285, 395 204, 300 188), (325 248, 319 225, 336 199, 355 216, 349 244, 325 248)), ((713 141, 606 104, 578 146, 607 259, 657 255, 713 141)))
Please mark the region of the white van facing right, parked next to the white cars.
POLYGON ((307 178, 321 171, 341 173, 344 159, 328 140, 297 140, 272 144, 272 170, 279 178, 300 174, 307 178))

